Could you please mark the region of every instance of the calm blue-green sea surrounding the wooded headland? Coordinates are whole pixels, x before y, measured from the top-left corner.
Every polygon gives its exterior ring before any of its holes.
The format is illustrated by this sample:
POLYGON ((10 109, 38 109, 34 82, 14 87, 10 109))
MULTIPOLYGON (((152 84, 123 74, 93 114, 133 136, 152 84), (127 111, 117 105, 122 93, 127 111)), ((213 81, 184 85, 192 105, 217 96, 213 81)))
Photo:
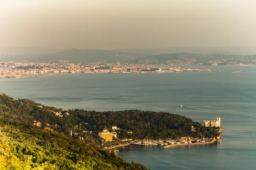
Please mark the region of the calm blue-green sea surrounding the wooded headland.
POLYGON ((0 93, 63 109, 167 111, 198 122, 221 116, 224 139, 216 144, 168 149, 127 147, 120 148, 118 155, 152 170, 256 169, 256 67, 181 68, 210 68, 212 72, 0 79, 0 93), (231 73, 238 70, 243 71, 231 73))

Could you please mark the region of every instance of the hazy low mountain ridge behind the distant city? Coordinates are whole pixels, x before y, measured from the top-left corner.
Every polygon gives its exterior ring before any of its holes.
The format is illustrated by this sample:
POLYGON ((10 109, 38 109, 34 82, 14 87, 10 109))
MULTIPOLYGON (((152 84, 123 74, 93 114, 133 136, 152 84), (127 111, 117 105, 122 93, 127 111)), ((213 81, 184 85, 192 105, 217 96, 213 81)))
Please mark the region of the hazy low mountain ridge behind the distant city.
MULTIPOLYGON (((181 50, 182 48, 180 48, 181 50)), ((241 48, 244 49, 244 48, 241 48)), ((239 50, 239 49, 237 49, 239 50)), ((253 49, 251 49, 253 50, 253 49)), ((173 48, 156 49, 67 49, 51 54, 23 54, 19 56, 1 55, 0 61, 7 62, 79 62, 79 63, 116 63, 120 64, 175 64, 175 65, 237 65, 256 64, 256 55, 169 52, 173 48)), ((177 50, 176 50, 177 51, 177 50)), ((214 50, 216 51, 216 50, 214 50)), ((255 50, 256 52, 256 50, 255 50)))

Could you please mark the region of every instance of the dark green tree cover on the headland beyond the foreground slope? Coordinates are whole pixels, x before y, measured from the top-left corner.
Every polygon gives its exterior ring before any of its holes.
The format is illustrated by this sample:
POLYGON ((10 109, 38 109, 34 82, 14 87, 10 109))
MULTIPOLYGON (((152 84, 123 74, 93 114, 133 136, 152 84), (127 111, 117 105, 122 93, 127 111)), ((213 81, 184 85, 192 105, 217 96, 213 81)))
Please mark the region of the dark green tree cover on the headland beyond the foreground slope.
POLYGON ((93 131, 97 134, 104 127, 111 128, 116 125, 121 128, 119 130, 121 139, 163 139, 188 135, 195 137, 201 134, 206 137, 218 136, 216 128, 201 126, 192 119, 172 113, 139 110, 97 112, 76 109, 62 111, 62 109, 42 106, 28 99, 14 100, 5 95, 0 95, 0 103, 2 103, 0 113, 2 111, 2 117, 8 120, 29 124, 33 124, 36 120, 43 126, 48 123, 52 129, 65 134, 69 134, 70 130, 78 133, 84 130, 93 131), (53 111, 63 116, 57 116, 53 111), (191 126, 196 127, 197 133, 191 132, 191 126), (127 131, 132 131, 132 134, 128 134, 127 131))

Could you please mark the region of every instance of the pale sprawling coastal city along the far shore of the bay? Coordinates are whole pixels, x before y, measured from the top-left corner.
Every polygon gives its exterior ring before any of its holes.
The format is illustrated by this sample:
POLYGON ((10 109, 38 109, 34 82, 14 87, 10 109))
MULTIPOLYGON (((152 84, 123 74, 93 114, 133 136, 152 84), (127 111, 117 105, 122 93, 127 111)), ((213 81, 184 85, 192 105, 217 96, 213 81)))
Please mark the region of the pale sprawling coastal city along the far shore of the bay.
POLYGON ((183 71, 211 71, 210 69, 181 69, 177 67, 157 67, 154 65, 117 65, 114 64, 75 64, 69 62, 59 63, 22 63, 0 62, 0 79, 20 78, 31 75, 54 73, 170 73, 183 71))

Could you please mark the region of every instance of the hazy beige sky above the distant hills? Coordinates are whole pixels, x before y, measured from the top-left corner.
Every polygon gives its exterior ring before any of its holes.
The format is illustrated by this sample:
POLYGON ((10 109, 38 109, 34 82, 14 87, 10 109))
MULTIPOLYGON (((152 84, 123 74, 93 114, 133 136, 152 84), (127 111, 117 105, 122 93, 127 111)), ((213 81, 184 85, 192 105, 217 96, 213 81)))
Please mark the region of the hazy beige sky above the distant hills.
POLYGON ((256 46, 256 0, 0 0, 0 46, 256 46))

